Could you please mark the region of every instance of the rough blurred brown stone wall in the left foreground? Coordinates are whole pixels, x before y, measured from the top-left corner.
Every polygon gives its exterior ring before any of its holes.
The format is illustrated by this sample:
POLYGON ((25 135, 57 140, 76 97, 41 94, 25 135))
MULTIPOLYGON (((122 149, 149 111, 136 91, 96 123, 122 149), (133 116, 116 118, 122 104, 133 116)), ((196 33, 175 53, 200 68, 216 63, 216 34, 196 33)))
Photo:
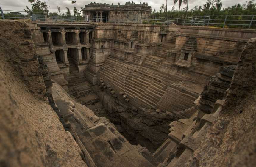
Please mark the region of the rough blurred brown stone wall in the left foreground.
POLYGON ((48 103, 29 26, 0 24, 0 166, 86 166, 48 103))

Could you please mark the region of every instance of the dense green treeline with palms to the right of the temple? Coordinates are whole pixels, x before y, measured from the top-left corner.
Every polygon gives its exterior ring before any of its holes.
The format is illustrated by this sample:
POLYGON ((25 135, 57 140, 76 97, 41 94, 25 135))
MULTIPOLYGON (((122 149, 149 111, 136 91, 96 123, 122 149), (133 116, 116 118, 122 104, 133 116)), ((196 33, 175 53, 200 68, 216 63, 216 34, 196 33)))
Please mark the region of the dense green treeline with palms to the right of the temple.
MULTIPOLYGON (((174 1, 176 1, 177 4, 179 4, 179 0, 174 0, 174 1)), ((188 1, 188 6, 189 6, 189 1, 188 1)), ((151 16, 184 19, 186 17, 186 7, 180 9, 180 11, 172 7, 171 10, 168 10, 166 12, 166 6, 163 4, 160 7, 159 11, 156 11, 154 9, 152 11, 151 16)), ((195 6, 192 9, 188 8, 187 16, 188 17, 202 16, 199 18, 204 19, 206 23, 208 22, 210 23, 210 26, 215 26, 215 27, 222 27, 225 22, 225 27, 228 27, 228 28, 248 28, 248 25, 241 26, 241 25, 228 25, 228 24, 250 24, 250 23, 256 24, 256 3, 254 3, 254 0, 251 0, 251 1, 247 1, 245 4, 238 3, 231 7, 222 8, 221 0, 207 0, 205 4, 203 4, 202 6, 195 6), (243 15, 255 15, 255 17, 243 16, 243 15), (209 20, 209 16, 210 16, 210 20, 209 20), (233 21, 224 21, 225 18, 227 20, 233 20, 233 21), (211 19, 214 19, 214 21, 211 19)), ((251 28, 255 29, 256 26, 251 26, 251 28)))

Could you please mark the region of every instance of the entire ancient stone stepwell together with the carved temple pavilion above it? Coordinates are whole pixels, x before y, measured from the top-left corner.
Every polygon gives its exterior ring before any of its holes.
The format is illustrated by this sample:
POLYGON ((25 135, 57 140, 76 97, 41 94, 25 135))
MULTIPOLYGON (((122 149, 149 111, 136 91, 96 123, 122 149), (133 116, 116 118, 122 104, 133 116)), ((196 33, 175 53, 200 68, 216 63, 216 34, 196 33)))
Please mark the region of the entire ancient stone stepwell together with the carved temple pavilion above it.
POLYGON ((1 167, 256 164, 256 30, 104 19, 147 3, 83 12, 0 20, 1 167))

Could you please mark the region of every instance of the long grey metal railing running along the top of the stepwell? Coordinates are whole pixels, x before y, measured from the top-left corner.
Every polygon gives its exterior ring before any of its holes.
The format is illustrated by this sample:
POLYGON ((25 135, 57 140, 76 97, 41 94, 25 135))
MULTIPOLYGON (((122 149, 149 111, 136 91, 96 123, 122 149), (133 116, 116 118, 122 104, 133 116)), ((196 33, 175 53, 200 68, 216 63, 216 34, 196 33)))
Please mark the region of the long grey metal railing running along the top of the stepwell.
MULTIPOLYGON (((176 24, 180 26, 213 26, 220 28, 242 28, 256 29, 256 15, 210 15, 210 16, 188 16, 184 18, 167 17, 105 17, 103 16, 72 16, 59 15, 56 13, 27 14, 24 11, 3 10, 5 19, 31 19, 32 21, 67 21, 67 22, 107 22, 107 23, 135 23, 135 24, 176 24)), ((0 15, 0 18, 3 19, 0 15)))

